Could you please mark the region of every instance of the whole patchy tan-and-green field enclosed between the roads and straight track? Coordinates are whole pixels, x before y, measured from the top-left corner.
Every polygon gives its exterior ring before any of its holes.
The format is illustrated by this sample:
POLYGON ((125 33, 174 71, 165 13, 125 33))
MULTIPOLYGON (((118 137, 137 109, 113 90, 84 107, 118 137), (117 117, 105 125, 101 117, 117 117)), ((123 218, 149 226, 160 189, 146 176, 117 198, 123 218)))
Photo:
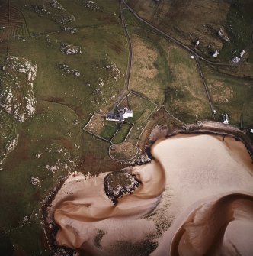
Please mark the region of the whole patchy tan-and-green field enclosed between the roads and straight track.
MULTIPOLYGON (((130 14, 128 20, 134 20, 130 14)), ((166 105, 184 122, 210 118, 210 106, 195 61, 187 51, 146 28, 130 28, 132 88, 153 102, 166 105), (146 52, 145 57, 141 57, 143 52, 146 52)))

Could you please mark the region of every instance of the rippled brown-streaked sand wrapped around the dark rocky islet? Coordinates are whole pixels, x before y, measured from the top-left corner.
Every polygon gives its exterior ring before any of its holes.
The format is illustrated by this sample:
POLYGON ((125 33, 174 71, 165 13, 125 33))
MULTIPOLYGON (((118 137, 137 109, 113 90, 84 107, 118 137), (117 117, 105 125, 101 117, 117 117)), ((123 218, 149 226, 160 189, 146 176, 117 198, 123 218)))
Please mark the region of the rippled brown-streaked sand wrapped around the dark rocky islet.
POLYGON ((142 184, 132 195, 119 199, 115 206, 104 193, 107 173, 88 179, 82 173, 69 177, 52 204, 54 220, 60 226, 57 243, 69 248, 88 249, 94 255, 105 255, 106 251, 93 248, 99 230, 107 232, 103 238, 104 248, 113 241, 141 241, 154 232, 152 222, 138 218, 152 211, 159 202, 165 186, 164 172, 155 161, 134 167, 132 172, 142 184), (157 170, 156 175, 154 170, 157 170))

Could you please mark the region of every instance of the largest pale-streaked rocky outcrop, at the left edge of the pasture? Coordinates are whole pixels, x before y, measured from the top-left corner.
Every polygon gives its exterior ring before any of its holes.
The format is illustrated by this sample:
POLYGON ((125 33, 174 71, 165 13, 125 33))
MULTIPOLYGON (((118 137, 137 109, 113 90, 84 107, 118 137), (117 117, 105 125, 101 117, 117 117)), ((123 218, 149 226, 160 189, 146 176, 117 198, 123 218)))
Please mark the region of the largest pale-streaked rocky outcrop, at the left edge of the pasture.
POLYGON ((37 65, 22 57, 8 56, 0 79, 0 107, 16 122, 24 122, 35 113, 34 79, 37 65))

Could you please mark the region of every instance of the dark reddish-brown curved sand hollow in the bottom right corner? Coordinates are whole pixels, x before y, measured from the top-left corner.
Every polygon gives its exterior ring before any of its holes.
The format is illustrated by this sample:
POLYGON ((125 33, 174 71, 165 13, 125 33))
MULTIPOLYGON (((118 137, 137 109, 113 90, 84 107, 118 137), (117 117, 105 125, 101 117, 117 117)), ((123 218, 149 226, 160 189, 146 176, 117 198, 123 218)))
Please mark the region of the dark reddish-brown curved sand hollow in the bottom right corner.
POLYGON ((198 207, 181 225, 171 255, 253 255, 253 196, 230 194, 198 207))

